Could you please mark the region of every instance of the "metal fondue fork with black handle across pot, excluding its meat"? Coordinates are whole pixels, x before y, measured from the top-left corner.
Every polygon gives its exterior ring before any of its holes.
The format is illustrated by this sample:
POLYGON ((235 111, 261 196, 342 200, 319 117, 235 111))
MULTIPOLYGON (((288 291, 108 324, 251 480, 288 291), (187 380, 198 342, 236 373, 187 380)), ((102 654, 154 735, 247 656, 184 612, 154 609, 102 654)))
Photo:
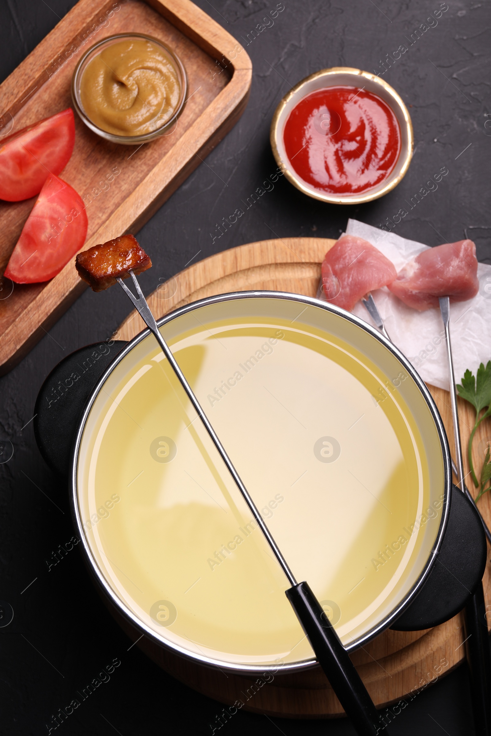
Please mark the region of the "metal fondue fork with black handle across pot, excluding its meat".
POLYGON ((223 447, 222 442, 220 442, 220 439, 209 422, 208 417, 199 404, 193 389, 191 389, 191 386, 183 375, 174 355, 172 355, 172 351, 168 344, 160 334, 157 322, 155 322, 155 317, 153 316, 152 311, 150 311, 149 305, 146 303, 144 294, 140 289, 133 270, 130 269, 129 273, 133 279, 138 297, 135 297, 132 291, 127 288, 121 277, 117 278, 119 285, 137 309, 138 314, 140 314, 146 326, 155 336, 163 354, 169 361, 169 364, 180 381, 181 386, 183 386, 188 399, 191 401, 191 404, 194 406, 194 409, 202 421, 205 430, 208 432, 213 445, 215 445, 219 456, 224 461, 228 472, 232 476, 233 481, 247 503, 252 516, 255 518, 259 528, 261 528, 264 537, 266 537, 269 547, 278 560, 289 584, 292 586, 285 591, 286 598, 288 598, 292 605, 292 608, 297 615, 297 619, 299 620, 300 625, 314 650, 317 661, 322 667, 322 670, 324 670, 324 673, 331 683, 331 687, 336 693, 336 696, 339 698, 342 707, 345 709, 347 717, 350 718, 350 721, 353 723, 356 733, 359 736, 376 736, 383 729, 386 733, 386 729, 384 728, 385 724, 381 720, 381 715, 376 710, 361 677, 358 675, 353 662, 351 662, 351 659, 336 634, 331 621, 328 619, 328 616, 322 609, 319 601, 317 601, 317 598, 311 591, 307 582, 303 581, 301 583, 297 583, 294 578, 292 570, 290 570, 289 565, 286 563, 283 554, 275 542, 275 539, 273 539, 272 534, 264 523, 254 501, 250 497, 249 492, 247 492, 244 483, 241 481, 239 473, 237 473, 236 468, 233 466, 232 461, 225 451, 225 447, 223 447))

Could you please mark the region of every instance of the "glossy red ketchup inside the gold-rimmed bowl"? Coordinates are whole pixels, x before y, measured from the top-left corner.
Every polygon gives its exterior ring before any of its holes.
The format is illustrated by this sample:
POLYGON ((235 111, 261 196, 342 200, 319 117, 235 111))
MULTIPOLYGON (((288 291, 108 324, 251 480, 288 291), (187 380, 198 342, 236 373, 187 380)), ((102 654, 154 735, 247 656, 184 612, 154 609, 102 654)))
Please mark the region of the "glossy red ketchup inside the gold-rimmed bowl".
POLYGON ((389 176, 400 152, 400 128, 377 95, 329 87, 293 108, 283 141, 290 166, 305 183, 329 194, 357 194, 389 176))

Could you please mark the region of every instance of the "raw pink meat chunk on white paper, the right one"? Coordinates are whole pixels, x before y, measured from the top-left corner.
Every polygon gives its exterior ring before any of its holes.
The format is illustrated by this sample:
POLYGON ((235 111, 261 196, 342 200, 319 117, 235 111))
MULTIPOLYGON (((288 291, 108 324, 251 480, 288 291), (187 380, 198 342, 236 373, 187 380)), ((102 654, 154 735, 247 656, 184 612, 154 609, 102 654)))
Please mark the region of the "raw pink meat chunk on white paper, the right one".
POLYGON ((389 289, 409 307, 423 312, 439 307, 438 297, 465 302, 479 288, 476 246, 472 240, 423 250, 398 273, 389 289))

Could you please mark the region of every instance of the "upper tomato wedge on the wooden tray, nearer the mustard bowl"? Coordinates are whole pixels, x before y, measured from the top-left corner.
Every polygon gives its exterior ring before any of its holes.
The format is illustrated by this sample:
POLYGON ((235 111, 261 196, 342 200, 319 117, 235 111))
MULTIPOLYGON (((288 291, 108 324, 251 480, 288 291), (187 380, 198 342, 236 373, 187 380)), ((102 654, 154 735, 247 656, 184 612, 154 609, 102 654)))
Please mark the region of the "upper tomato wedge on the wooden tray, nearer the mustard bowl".
POLYGON ((71 107, 0 138, 0 199, 19 202, 39 194, 49 174, 65 168, 74 142, 71 107))

